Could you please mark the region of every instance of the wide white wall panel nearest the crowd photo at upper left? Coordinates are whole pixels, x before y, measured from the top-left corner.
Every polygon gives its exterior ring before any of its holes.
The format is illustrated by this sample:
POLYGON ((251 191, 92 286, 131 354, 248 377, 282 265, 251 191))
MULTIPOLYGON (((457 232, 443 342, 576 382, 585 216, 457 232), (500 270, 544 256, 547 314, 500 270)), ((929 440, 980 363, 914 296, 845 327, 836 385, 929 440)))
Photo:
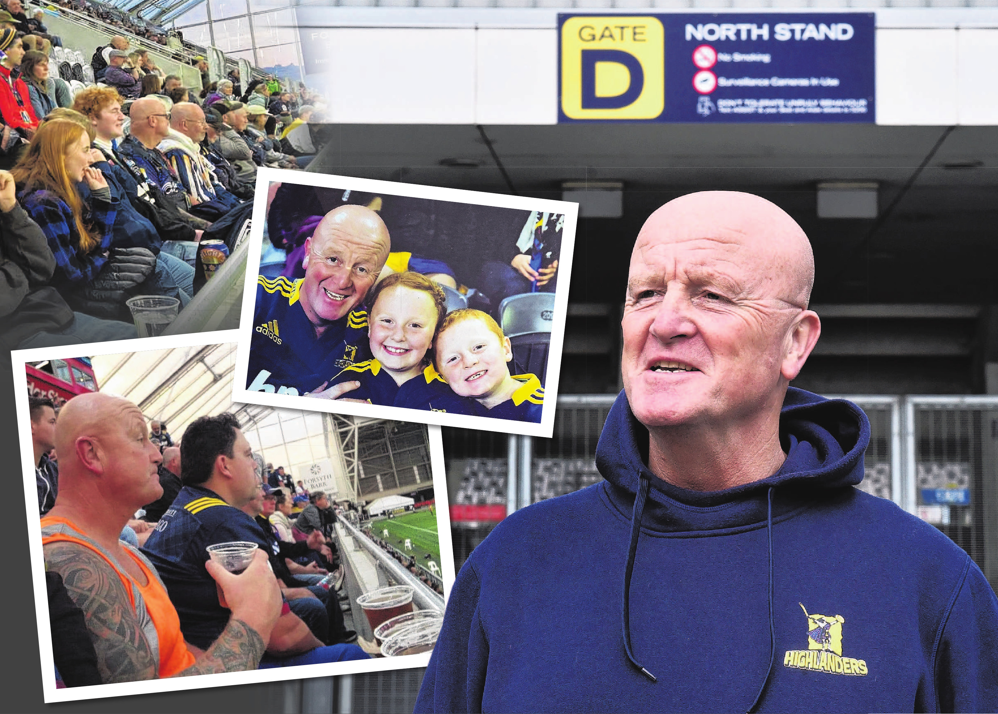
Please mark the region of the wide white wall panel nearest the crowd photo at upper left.
POLYGON ((475 31, 328 30, 326 85, 339 124, 474 124, 475 31))

